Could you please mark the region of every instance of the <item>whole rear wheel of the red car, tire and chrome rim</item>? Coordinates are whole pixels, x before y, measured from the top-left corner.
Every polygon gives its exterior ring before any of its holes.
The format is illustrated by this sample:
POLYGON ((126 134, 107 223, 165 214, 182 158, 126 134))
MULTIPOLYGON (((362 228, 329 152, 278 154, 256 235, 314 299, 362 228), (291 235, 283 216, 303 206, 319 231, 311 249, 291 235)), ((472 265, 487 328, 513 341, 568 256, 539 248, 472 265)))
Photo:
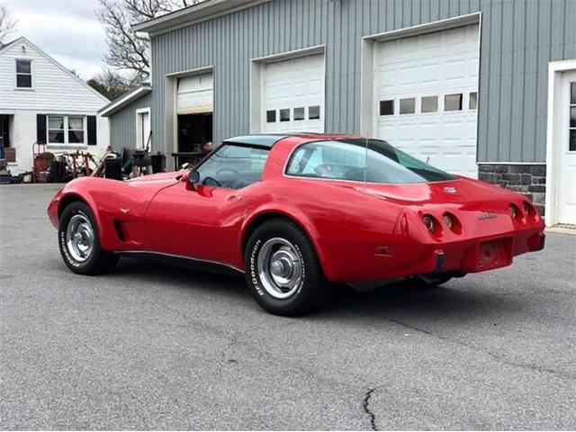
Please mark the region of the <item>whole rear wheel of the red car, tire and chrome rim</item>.
POLYGON ((293 222, 269 220, 248 238, 248 289, 270 313, 295 316, 319 308, 328 284, 306 234, 293 222))

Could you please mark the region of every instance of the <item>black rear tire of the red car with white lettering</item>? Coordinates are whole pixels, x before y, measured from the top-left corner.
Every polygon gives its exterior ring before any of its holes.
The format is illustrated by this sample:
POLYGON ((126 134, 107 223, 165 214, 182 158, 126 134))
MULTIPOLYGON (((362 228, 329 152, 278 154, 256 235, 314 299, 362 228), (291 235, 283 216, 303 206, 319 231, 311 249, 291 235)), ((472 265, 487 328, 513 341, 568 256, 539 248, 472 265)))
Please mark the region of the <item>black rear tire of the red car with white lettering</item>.
POLYGON ((257 303, 275 315, 297 316, 317 310, 328 297, 328 281, 320 260, 308 236, 290 220, 268 220, 248 238, 244 254, 247 286, 257 303), (292 244, 301 261, 301 278, 294 292, 278 299, 269 290, 258 272, 258 257, 262 247, 271 239, 282 238, 292 244))

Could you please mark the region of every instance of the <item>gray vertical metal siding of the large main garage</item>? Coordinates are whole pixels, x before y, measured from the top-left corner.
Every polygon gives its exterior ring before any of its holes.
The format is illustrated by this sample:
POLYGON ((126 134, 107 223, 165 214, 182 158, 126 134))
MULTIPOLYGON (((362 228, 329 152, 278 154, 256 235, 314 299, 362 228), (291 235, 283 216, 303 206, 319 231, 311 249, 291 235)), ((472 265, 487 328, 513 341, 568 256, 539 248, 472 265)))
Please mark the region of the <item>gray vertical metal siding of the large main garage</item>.
POLYGON ((548 62, 576 58, 573 0, 274 0, 157 35, 155 149, 171 151, 162 143, 166 74, 214 67, 219 142, 249 132, 250 60, 316 45, 326 46, 326 130, 358 133, 362 38, 479 11, 478 159, 543 162, 548 62))

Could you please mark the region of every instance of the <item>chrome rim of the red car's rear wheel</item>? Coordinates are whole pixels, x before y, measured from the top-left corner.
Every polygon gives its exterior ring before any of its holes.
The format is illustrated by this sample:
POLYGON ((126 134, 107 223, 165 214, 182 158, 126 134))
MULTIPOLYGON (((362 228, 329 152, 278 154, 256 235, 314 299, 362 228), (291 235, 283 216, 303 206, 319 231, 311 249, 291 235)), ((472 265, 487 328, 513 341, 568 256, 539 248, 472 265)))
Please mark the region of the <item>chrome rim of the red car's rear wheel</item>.
POLYGON ((285 238, 270 238, 262 245, 257 271, 266 293, 275 299, 287 299, 302 282, 300 254, 285 238))

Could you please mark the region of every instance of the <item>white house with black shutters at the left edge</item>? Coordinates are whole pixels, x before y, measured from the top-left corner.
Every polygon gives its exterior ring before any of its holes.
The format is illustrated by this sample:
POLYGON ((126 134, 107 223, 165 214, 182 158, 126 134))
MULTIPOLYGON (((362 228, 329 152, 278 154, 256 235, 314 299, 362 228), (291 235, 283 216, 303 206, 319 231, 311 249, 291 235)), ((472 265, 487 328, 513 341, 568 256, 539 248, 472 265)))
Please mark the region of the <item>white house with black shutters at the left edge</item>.
POLYGON ((0 43, 0 146, 9 166, 30 170, 37 141, 55 155, 102 155, 108 119, 97 112, 108 102, 30 40, 0 43))

